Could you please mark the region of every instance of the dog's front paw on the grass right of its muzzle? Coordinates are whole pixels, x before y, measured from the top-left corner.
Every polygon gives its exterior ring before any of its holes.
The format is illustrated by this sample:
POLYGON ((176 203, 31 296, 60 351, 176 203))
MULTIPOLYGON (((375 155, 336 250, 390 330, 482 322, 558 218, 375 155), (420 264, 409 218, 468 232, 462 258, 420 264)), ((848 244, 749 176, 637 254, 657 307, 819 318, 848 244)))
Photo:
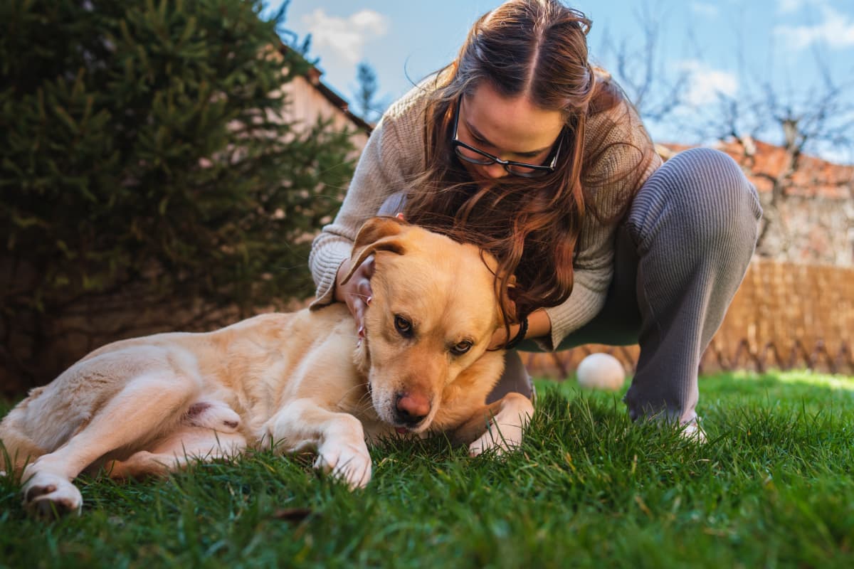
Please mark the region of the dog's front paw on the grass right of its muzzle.
POLYGON ((468 421, 458 427, 453 438, 469 445, 469 455, 477 456, 484 450, 503 453, 522 444, 522 433, 534 405, 521 393, 507 393, 493 404, 484 405, 468 421), (474 442, 472 442, 474 441, 474 442))

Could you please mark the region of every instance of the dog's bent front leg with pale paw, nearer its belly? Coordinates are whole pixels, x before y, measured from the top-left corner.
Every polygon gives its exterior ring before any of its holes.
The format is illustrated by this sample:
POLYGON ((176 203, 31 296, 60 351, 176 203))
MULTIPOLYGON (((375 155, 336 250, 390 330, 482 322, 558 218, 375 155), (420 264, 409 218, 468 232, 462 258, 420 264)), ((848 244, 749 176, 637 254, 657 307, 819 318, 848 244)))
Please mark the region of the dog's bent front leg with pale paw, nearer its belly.
POLYGON ((314 467, 342 479, 351 489, 364 488, 371 480, 365 431, 353 415, 298 399, 273 415, 264 431, 266 440, 281 452, 316 450, 314 467))

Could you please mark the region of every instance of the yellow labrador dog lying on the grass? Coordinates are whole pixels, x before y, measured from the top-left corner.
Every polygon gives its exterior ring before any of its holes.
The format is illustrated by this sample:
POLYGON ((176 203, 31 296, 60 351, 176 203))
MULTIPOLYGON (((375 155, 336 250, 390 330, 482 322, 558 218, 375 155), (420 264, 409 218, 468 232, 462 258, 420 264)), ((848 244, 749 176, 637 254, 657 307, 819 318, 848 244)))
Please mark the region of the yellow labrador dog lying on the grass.
POLYGON ((359 487, 371 479, 366 438, 444 432, 472 455, 517 445, 529 399, 485 404, 504 365, 487 351, 503 326, 488 256, 393 218, 365 224, 351 266, 371 254, 359 345, 334 304, 118 341, 33 389, 0 423, 26 506, 79 513, 71 480, 85 469, 165 473, 247 447, 314 450, 315 467, 359 487))

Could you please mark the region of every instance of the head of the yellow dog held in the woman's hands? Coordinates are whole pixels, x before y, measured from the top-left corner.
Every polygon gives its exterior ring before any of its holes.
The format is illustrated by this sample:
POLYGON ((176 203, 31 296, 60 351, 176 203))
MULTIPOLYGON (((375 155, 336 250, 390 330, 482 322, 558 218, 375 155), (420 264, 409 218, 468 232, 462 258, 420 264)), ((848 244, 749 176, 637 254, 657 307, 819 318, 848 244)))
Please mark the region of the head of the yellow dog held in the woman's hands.
POLYGON ((419 433, 455 388, 483 404, 503 366, 500 352, 486 351, 503 326, 494 259, 395 218, 366 222, 351 267, 371 254, 373 299, 360 357, 377 415, 419 433), (485 375, 479 383, 477 374, 485 375))

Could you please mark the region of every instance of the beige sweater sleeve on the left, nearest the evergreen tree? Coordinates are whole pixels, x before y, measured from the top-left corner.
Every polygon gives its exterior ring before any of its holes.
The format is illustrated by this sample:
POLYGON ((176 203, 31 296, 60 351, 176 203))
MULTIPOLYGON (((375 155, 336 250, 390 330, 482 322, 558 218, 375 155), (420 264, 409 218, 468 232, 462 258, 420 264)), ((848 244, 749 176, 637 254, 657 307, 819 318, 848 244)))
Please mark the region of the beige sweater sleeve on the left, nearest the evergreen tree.
POLYGON ((389 195, 406 189, 407 177, 422 160, 420 113, 411 99, 412 96, 405 97, 389 108, 371 132, 341 209, 314 238, 308 257, 317 285, 314 305, 333 302, 338 268, 349 258, 359 228, 377 214, 389 195))

